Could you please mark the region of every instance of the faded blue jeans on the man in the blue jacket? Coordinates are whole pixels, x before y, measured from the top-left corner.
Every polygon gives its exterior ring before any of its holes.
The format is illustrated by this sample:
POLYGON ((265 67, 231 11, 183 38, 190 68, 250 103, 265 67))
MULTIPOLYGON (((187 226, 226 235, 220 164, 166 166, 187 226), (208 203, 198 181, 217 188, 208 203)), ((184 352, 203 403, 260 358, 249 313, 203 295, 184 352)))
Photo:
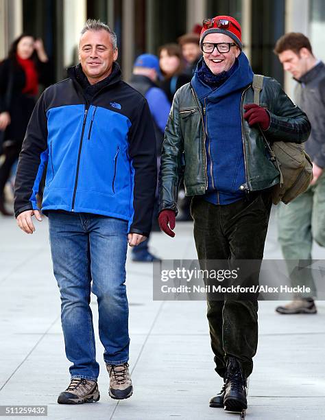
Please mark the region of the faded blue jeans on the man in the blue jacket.
POLYGON ((97 296, 104 360, 129 358, 125 259, 128 222, 89 213, 49 212, 53 271, 61 295, 61 321, 71 377, 97 380, 91 291, 97 296), (91 284, 91 282, 93 283, 91 284))

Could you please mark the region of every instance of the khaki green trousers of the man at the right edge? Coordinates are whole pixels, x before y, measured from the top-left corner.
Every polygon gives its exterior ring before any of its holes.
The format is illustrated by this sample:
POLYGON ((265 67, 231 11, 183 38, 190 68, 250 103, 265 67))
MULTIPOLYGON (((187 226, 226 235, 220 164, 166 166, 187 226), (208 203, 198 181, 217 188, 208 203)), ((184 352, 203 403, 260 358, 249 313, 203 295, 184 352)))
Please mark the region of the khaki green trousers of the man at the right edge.
POLYGON ((291 284, 311 288, 310 294, 296 297, 316 297, 317 290, 311 269, 295 270, 299 266, 308 267, 311 261, 313 240, 325 246, 325 174, 315 185, 311 185, 288 205, 278 206, 278 240, 283 257, 287 260, 291 284))

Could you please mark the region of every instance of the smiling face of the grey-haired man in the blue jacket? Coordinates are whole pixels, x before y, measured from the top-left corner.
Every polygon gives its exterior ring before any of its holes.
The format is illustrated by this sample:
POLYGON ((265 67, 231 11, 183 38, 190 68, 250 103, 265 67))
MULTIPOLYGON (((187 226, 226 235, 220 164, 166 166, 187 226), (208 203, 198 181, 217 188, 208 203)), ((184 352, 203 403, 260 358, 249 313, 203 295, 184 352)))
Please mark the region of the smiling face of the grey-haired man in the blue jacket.
POLYGON ((89 83, 95 84, 107 78, 117 60, 110 34, 106 30, 86 31, 80 38, 79 59, 89 83))

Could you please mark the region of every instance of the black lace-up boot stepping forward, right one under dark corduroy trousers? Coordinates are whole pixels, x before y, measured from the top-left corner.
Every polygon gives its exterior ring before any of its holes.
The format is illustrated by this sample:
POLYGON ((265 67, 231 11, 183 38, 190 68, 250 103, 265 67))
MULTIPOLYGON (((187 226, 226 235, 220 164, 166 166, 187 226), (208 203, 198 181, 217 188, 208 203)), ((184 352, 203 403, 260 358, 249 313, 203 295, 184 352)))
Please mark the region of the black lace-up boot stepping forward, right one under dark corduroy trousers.
POLYGON ((246 379, 241 366, 235 358, 228 358, 226 371, 226 390, 224 408, 227 411, 241 412, 247 408, 246 379))

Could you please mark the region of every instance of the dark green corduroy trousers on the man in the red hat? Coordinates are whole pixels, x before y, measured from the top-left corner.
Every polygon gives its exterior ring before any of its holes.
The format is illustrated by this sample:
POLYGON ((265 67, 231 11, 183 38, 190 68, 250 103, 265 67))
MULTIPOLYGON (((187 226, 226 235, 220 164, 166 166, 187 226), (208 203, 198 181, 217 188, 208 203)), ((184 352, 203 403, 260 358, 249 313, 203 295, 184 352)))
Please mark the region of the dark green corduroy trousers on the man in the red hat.
MULTIPOLYGON (((269 190, 251 193, 230 205, 193 197, 191 214, 199 260, 262 260, 272 199, 269 190)), ((224 377, 226 358, 237 358, 245 377, 252 373, 258 341, 256 300, 208 299, 208 325, 215 371, 224 377)))

